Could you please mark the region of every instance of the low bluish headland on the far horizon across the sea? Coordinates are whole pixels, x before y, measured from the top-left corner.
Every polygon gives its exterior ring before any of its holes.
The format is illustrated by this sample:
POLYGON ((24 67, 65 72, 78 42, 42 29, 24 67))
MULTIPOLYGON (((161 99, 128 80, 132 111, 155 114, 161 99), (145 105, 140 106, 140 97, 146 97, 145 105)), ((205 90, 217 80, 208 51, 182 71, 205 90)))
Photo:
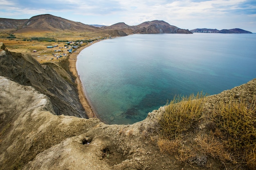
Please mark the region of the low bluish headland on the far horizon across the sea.
POLYGON ((192 33, 225 33, 225 34, 231 34, 231 33, 236 33, 236 34, 248 34, 252 33, 250 31, 245 31, 240 28, 234 28, 234 29, 223 29, 223 30, 217 30, 217 29, 208 29, 208 28, 196 28, 193 30, 190 30, 192 33))

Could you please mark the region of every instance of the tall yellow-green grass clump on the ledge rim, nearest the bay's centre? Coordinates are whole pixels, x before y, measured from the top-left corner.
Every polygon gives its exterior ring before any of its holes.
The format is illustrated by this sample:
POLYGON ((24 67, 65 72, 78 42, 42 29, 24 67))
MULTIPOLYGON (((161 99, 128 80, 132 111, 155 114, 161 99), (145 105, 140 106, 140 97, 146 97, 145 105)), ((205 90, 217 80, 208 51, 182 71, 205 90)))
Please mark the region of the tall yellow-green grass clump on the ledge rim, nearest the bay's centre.
POLYGON ((162 133, 165 138, 173 139, 195 127, 195 123, 202 117, 203 94, 193 94, 189 97, 175 96, 166 107, 160 120, 162 133))

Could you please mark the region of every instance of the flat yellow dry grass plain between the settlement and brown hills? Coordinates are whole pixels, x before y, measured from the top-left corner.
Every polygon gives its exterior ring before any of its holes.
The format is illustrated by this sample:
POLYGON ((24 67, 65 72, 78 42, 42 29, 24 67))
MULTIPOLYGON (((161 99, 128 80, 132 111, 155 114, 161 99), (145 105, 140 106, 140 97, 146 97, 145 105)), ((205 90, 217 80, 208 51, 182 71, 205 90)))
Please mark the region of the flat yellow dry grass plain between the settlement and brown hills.
MULTIPOLYGON (((96 37, 109 37, 103 33, 90 33, 90 32, 58 32, 58 33, 15 33, 16 38, 9 39, 8 31, 0 32, 0 42, 3 42, 7 49, 11 52, 21 52, 31 54, 38 62, 52 62, 52 53, 57 48, 46 48, 47 46, 54 46, 58 41, 76 41, 83 39, 94 39, 96 37), (36 41, 31 40, 35 37, 45 37, 54 41, 36 41), (37 50, 37 52, 33 52, 37 50), (40 56, 40 57, 38 57, 40 56)), ((65 42, 60 42, 59 46, 64 47, 65 42)), ((67 52, 66 52, 67 53, 67 52)), ((54 59, 56 61, 56 59, 54 59)), ((58 61, 58 60, 57 60, 58 61)))

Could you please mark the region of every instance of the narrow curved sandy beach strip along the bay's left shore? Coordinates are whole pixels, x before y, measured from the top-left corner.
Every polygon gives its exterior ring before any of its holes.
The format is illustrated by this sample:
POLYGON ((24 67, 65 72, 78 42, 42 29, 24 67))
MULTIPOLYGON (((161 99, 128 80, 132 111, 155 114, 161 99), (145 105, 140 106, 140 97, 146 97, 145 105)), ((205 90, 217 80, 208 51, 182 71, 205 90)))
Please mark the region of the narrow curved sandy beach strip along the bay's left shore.
MULTIPOLYGON (((94 44, 94 43, 92 43, 92 44, 94 44)), ((84 48, 86 48, 86 47, 88 47, 92 44, 87 44, 85 46, 82 46, 82 47, 79 47, 78 49, 76 49, 76 52, 73 52, 72 54, 70 54, 69 62, 70 62, 70 71, 74 74, 74 76, 77 77, 76 78, 76 84, 77 84, 77 89, 78 89, 78 93, 79 93, 79 100, 80 100, 83 108, 85 109, 88 118, 97 118, 97 114, 94 113, 92 107, 90 106, 90 103, 88 102, 88 100, 85 96, 83 85, 81 83, 81 80, 80 80, 79 75, 78 75, 77 70, 76 70, 76 61, 77 61, 78 54, 84 48)))

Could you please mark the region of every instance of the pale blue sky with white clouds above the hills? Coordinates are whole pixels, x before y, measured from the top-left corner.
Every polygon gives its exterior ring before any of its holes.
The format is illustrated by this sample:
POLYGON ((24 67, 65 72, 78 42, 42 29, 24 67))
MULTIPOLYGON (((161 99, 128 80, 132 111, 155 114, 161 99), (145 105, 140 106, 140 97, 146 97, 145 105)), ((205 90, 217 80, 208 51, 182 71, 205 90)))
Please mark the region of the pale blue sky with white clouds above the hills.
POLYGON ((241 28, 256 33, 256 0, 0 0, 0 17, 52 14, 84 24, 133 26, 164 20, 183 29, 241 28))

